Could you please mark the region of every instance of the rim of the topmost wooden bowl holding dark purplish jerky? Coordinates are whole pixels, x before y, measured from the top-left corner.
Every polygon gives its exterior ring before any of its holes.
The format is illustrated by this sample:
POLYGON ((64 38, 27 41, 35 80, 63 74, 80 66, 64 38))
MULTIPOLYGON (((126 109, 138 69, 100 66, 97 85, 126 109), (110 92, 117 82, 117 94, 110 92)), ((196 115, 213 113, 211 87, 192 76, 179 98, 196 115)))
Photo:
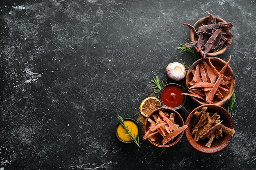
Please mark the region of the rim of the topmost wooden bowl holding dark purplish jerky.
MULTIPOLYGON (((193 27, 196 29, 198 27, 198 25, 202 22, 202 21, 205 21, 205 20, 208 20, 209 19, 209 16, 206 16, 206 17, 202 17, 200 18, 197 22, 195 22, 195 24, 193 25, 193 27)), ((216 20, 218 22, 226 22, 225 20, 223 20, 221 17, 216 17, 216 20)), ((228 31, 232 32, 231 29, 227 28, 228 31)), ((231 42, 232 42, 232 39, 233 37, 231 37, 231 42)), ((190 41, 191 42, 195 42, 195 33, 191 30, 190 31, 190 41)), ((195 50, 198 50, 197 47, 194 47, 195 50)), ((226 46, 223 46, 220 50, 218 50, 217 52, 208 52, 207 53, 207 57, 215 57, 219 54, 223 54, 224 52, 227 51, 227 47, 226 46)))

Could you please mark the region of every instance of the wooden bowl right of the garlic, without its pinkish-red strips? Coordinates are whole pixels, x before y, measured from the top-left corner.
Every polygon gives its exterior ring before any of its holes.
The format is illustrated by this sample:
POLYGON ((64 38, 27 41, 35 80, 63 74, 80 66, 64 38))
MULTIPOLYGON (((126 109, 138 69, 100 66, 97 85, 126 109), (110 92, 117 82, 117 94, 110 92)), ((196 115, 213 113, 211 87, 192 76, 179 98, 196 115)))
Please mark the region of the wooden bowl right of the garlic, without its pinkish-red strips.
MULTIPOLYGON (((216 68, 217 71, 220 71, 222 69, 222 67, 227 63, 226 61, 218 58, 218 57, 207 57, 207 59, 209 59, 211 61, 211 63, 213 64, 213 66, 216 68)), ((186 91, 189 90, 189 82, 192 81, 193 79, 193 73, 191 72, 192 70, 194 70, 196 68, 196 66, 198 64, 200 64, 201 62, 203 61, 207 61, 204 60, 204 59, 199 59, 197 61, 195 61, 191 67, 189 68, 187 74, 186 74, 186 91)), ((215 104, 215 105, 223 105, 225 104, 232 96, 234 90, 235 90, 235 76, 234 76, 234 72, 233 70, 231 69, 231 67, 228 65, 228 67, 226 68, 225 72, 224 72, 224 76, 231 76, 231 80, 230 80, 230 84, 229 84, 229 91, 227 92, 222 92, 222 95, 223 95, 223 98, 222 100, 218 99, 216 96, 213 98, 213 103, 211 104, 215 104)), ((195 98, 195 97, 192 97, 192 100, 195 101, 198 105, 206 105, 206 104, 209 104, 207 103, 206 101, 200 99, 200 98, 195 98)))

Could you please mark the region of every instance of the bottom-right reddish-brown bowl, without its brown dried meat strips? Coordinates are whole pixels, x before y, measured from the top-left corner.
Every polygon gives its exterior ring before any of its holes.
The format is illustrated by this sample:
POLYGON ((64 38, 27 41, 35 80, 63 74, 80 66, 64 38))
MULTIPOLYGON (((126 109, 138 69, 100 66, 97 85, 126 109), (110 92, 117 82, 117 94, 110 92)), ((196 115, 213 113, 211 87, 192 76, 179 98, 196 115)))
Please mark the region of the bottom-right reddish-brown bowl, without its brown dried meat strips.
POLYGON ((191 111, 188 118, 186 119, 186 125, 188 125, 188 128, 185 130, 185 135, 189 144, 191 144, 191 146, 196 150, 202 153, 217 153, 229 145, 229 143, 231 142, 232 136, 222 132, 222 137, 220 139, 214 138, 213 142, 211 143, 211 147, 208 148, 207 146, 205 146, 205 144, 207 144, 209 139, 204 139, 204 140, 199 139, 198 141, 195 141, 194 135, 191 135, 193 131, 193 127, 191 126, 191 124, 195 119, 194 113, 195 111, 201 111, 203 107, 207 107, 207 111, 209 113, 218 112, 218 114, 220 115, 220 121, 223 120, 222 124, 231 129, 234 129, 233 119, 226 109, 217 105, 202 105, 195 108, 193 111, 191 111))

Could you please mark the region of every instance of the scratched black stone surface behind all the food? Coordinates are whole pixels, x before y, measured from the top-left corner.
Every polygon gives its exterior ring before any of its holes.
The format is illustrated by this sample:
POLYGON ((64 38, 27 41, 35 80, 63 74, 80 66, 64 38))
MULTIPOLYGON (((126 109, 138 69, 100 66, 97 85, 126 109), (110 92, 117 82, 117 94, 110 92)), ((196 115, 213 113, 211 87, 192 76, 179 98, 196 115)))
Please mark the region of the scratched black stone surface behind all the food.
MULTIPOLYGON (((0 170, 256 168, 254 0, 1 0, 0 170), (182 140, 162 155, 142 137, 139 105, 164 83, 168 63, 193 63, 177 50, 182 24, 215 16, 234 24, 218 57, 236 78, 236 133, 204 154, 182 140), (141 149, 115 136, 116 116, 138 120, 141 149)), ((184 85, 184 81, 177 82, 184 85)), ((197 105, 187 98, 189 111, 197 105)), ((227 105, 223 107, 227 108, 227 105)), ((186 117, 184 118, 184 121, 186 117)))

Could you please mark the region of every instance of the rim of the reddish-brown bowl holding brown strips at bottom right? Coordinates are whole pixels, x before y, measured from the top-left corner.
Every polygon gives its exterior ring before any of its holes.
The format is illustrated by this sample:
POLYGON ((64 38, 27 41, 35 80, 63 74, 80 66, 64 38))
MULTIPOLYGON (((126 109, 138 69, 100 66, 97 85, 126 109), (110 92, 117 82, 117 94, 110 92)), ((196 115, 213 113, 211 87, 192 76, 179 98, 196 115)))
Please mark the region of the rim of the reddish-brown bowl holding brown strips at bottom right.
POLYGON ((233 121, 231 115, 228 113, 228 111, 226 109, 224 109, 223 107, 218 106, 218 105, 207 104, 207 105, 198 106, 195 109, 193 109, 193 111, 191 111, 191 113, 187 117, 186 123, 185 123, 186 125, 188 125, 188 128, 185 129, 185 136, 186 136, 186 139, 189 142, 189 144, 194 149, 196 149, 196 150, 198 150, 198 151, 200 151, 202 153, 217 153, 217 152, 223 150, 224 148, 226 148, 230 144, 232 136, 226 135, 225 137, 223 137, 222 142, 221 142, 221 144, 219 146, 208 148, 207 146, 202 147, 201 145, 199 145, 198 142, 194 140, 193 136, 191 135, 191 132, 189 131, 189 129, 190 129, 189 124, 192 122, 192 120, 194 118, 194 115, 193 115, 194 112, 195 111, 200 111, 203 107, 207 107, 207 108, 209 108, 209 110, 211 110, 212 107, 218 107, 218 109, 221 110, 221 112, 218 111, 218 113, 220 112, 220 114, 222 116, 224 114, 225 117, 228 118, 227 120, 229 120, 229 123, 231 124, 231 126, 229 126, 229 128, 234 129, 234 121, 233 121))

